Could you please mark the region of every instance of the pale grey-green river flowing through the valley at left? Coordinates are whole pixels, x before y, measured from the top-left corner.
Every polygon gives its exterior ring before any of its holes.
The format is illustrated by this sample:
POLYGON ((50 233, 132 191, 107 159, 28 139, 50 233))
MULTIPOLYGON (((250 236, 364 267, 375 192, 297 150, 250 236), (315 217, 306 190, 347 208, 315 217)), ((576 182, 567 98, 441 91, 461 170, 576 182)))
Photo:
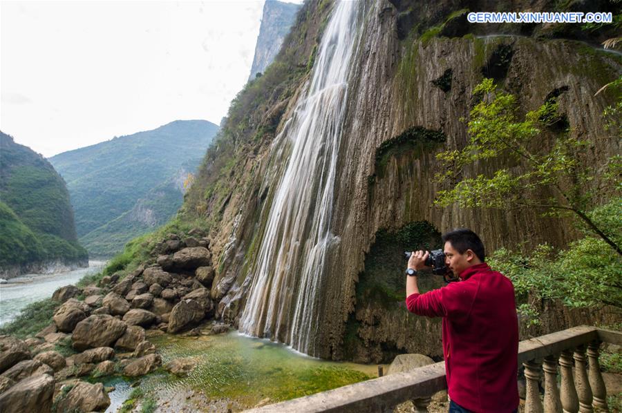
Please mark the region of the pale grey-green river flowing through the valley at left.
POLYGON ((75 284, 82 277, 102 271, 105 261, 88 261, 88 268, 51 274, 26 274, 0 284, 0 326, 9 323, 26 305, 50 298, 58 287, 75 284))

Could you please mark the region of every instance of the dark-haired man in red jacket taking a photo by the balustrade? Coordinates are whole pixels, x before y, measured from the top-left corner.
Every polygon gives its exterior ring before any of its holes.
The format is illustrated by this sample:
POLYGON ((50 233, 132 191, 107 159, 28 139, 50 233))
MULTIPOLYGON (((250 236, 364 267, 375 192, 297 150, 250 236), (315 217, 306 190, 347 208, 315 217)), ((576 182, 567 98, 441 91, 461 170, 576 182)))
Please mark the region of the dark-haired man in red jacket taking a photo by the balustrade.
POLYGON ((442 236, 445 263, 458 282, 420 294, 417 271, 426 251, 413 251, 406 270, 408 311, 442 317, 449 412, 516 412, 518 318, 511 281, 484 262, 484 244, 469 229, 442 236))

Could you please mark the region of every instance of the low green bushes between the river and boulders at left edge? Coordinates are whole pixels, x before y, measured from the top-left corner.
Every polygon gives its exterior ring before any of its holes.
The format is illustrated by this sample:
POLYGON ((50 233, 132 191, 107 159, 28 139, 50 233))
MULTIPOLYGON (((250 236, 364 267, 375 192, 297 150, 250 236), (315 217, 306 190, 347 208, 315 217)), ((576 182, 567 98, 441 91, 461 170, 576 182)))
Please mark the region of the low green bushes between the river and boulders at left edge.
POLYGON ((0 334, 10 334, 18 338, 34 336, 50 324, 60 303, 48 298, 33 302, 24 307, 19 316, 0 327, 0 334))

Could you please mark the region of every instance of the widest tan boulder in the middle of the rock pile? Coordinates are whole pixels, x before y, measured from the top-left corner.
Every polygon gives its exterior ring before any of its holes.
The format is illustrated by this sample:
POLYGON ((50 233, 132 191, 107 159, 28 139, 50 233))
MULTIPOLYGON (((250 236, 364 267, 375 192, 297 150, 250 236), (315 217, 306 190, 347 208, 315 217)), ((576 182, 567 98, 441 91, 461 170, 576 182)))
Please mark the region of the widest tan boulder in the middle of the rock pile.
POLYGON ((73 330, 73 348, 82 351, 94 347, 110 347, 127 328, 113 316, 97 314, 80 321, 73 330))

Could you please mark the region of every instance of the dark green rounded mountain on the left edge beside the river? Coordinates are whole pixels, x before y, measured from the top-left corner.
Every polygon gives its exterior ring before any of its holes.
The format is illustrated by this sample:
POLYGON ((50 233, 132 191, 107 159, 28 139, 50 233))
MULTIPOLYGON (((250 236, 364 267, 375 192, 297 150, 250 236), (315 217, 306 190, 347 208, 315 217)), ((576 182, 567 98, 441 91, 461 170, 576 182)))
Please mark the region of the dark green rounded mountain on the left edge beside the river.
POLYGON ((86 265, 62 177, 44 157, 0 132, 0 276, 86 265))

